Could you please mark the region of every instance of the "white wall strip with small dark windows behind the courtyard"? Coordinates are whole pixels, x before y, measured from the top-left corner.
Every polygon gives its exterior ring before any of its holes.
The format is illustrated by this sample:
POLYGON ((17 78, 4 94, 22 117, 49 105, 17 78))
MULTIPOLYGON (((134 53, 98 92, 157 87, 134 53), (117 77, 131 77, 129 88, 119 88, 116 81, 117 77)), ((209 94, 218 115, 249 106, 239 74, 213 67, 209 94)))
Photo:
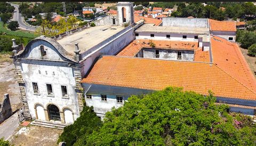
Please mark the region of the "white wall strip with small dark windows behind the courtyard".
POLYGON ((179 41, 188 41, 188 42, 198 41, 198 39, 195 39, 195 36, 198 36, 198 34, 171 34, 171 33, 150 33, 150 32, 140 32, 137 34, 139 34, 139 36, 136 36, 136 39, 179 40, 179 41), (154 37, 150 37, 150 34, 154 34, 154 37), (170 35, 170 38, 167 38, 166 35, 170 35), (182 36, 187 36, 187 38, 182 38, 182 36))

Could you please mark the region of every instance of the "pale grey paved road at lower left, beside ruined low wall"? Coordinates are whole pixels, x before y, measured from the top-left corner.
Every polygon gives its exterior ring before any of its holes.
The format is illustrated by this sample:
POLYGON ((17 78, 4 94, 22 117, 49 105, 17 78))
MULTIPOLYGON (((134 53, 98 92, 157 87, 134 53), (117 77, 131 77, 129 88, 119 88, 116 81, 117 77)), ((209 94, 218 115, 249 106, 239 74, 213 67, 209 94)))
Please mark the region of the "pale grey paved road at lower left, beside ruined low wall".
POLYGON ((19 126, 18 113, 15 112, 9 119, 0 124, 0 138, 9 139, 19 126))

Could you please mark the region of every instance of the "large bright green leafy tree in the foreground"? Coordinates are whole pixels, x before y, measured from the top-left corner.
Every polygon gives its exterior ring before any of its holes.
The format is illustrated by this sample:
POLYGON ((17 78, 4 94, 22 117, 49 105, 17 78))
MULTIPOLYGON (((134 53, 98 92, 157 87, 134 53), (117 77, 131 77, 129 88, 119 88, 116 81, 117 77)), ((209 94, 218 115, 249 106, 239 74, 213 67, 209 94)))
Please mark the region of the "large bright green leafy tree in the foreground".
POLYGON ((230 115, 203 96, 168 87, 143 96, 131 96, 124 106, 107 112, 99 131, 77 145, 254 145, 252 118, 230 115))

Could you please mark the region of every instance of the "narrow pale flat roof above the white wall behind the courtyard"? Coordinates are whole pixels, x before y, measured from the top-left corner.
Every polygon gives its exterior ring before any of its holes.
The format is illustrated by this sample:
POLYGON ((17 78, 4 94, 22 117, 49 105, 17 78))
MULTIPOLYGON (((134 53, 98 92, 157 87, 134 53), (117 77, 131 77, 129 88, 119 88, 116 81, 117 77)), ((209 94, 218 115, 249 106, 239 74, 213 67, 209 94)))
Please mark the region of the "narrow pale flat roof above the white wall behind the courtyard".
POLYGON ((174 34, 201 34, 209 35, 209 28, 191 28, 191 27, 170 27, 170 26, 151 26, 142 25, 137 30, 136 33, 141 32, 152 32, 152 33, 174 33, 174 34))

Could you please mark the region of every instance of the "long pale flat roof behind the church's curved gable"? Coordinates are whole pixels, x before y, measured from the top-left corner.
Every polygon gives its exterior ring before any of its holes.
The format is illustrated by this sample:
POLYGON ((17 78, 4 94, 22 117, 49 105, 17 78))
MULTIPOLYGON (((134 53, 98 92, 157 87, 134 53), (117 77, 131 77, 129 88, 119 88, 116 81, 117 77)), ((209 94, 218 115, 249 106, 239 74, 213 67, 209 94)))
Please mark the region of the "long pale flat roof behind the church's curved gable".
POLYGON ((91 47, 101 43, 103 40, 115 35, 119 31, 123 30, 121 26, 95 26, 88 29, 84 29, 73 35, 63 37, 57 42, 69 53, 74 53, 75 43, 78 43, 81 53, 89 50, 91 47))

